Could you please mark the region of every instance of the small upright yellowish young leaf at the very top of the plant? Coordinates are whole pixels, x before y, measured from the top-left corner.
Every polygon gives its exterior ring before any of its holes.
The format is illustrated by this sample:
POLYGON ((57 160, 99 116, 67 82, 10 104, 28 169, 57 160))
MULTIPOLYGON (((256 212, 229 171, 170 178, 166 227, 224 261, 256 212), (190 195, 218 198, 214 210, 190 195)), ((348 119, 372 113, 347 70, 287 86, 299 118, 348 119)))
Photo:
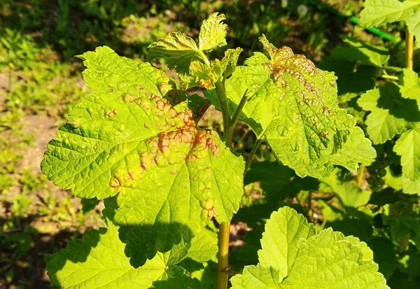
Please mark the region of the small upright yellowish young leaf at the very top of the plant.
POLYGON ((226 28, 223 23, 226 17, 224 14, 213 13, 203 21, 200 28, 199 47, 201 50, 211 50, 226 45, 226 28))

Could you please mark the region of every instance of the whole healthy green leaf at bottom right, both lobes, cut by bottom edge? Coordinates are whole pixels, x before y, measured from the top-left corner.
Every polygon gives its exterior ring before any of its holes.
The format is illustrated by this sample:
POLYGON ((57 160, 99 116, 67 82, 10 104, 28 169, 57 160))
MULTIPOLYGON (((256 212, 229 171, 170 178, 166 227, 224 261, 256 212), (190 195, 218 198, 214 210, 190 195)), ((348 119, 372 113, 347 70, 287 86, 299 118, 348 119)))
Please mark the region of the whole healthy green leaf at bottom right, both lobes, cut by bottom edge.
POLYGON ((234 276, 233 289, 388 288, 364 242, 330 228, 315 234, 293 209, 272 213, 261 244, 260 262, 234 276))

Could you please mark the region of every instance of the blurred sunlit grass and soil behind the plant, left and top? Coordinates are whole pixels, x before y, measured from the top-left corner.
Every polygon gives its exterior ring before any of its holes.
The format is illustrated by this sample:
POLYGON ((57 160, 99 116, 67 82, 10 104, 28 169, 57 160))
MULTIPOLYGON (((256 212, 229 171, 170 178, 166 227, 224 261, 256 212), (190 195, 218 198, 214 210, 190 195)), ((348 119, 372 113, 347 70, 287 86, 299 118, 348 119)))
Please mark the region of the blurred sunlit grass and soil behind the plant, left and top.
MULTIPOLYGON (((258 50, 262 33, 315 62, 342 36, 383 43, 325 6, 357 15, 361 1, 1 0, 0 288, 48 288, 43 255, 102 222, 100 204, 71 198, 39 169, 46 143, 87 92, 74 55, 108 45, 141 61, 147 46, 169 31, 196 36, 214 11, 225 13, 228 48, 244 48, 242 59, 258 50)), ((401 27, 389 29, 398 39, 401 27)))

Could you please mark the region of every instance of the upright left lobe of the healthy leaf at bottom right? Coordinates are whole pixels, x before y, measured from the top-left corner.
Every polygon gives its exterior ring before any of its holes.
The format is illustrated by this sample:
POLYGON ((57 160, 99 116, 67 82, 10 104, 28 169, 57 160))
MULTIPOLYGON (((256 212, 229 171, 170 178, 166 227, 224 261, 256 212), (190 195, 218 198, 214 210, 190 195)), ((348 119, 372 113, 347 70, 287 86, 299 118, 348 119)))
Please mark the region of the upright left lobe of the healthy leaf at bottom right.
POLYGON ((275 268, 283 279, 295 262, 300 241, 314 234, 314 226, 295 210, 285 206, 272 213, 262 233, 262 250, 258 251, 260 265, 275 268))

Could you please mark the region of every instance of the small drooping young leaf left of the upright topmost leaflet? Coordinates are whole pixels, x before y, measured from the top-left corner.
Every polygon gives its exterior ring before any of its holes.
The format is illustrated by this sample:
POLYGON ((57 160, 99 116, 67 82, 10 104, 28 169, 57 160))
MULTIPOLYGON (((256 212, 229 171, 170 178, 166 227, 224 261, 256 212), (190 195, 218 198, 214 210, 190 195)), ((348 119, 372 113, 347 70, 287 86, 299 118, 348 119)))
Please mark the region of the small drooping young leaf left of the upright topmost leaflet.
POLYGON ((147 57, 149 60, 163 58, 169 68, 186 73, 190 62, 202 59, 202 51, 197 48, 194 39, 185 33, 171 32, 148 46, 147 57))

